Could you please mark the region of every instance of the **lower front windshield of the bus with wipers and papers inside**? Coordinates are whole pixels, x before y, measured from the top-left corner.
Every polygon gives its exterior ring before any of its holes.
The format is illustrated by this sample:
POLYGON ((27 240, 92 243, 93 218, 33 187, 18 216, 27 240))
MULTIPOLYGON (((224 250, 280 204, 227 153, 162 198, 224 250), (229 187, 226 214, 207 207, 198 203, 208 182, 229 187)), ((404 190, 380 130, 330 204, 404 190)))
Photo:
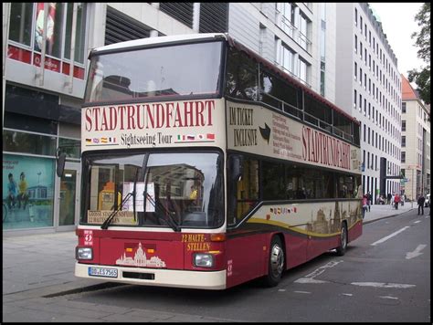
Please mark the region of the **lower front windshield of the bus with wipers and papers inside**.
POLYGON ((224 222, 220 154, 88 153, 81 223, 215 228, 224 222), (144 166, 144 167, 143 167, 144 166))

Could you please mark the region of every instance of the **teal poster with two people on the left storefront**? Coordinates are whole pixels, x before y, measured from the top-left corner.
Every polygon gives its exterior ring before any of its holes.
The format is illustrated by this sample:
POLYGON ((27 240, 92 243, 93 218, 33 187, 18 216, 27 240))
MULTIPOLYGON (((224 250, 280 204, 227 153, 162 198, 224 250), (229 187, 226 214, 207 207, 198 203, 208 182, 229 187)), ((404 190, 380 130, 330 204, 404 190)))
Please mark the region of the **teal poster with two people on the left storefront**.
POLYGON ((3 156, 4 229, 53 225, 54 160, 3 156))

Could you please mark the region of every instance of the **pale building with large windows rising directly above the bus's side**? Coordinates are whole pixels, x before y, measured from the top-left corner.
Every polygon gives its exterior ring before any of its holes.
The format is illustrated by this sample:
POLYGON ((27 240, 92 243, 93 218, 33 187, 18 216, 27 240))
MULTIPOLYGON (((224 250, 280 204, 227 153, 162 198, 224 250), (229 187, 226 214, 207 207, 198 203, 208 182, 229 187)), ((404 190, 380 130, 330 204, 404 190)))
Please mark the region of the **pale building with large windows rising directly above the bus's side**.
POLYGON ((228 33, 335 101, 335 4, 230 3, 228 33))

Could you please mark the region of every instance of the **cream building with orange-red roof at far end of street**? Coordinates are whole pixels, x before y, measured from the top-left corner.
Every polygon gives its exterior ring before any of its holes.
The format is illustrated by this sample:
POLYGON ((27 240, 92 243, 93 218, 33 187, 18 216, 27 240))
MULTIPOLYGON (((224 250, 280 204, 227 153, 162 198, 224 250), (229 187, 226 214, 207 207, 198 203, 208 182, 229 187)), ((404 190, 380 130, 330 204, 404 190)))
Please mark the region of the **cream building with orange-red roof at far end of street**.
POLYGON ((430 107, 424 105, 402 75, 401 168, 405 176, 402 192, 409 200, 431 191, 430 107))

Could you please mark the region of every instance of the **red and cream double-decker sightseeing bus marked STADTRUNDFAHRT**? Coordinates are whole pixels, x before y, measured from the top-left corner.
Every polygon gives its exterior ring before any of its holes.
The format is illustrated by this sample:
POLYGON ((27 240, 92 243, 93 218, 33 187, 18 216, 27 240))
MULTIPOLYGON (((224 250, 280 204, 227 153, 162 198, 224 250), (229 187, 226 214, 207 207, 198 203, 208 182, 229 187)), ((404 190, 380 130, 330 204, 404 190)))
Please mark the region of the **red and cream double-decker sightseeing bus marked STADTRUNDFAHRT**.
POLYGON ((75 275, 225 289, 362 234, 359 123, 227 34, 96 48, 75 275))

